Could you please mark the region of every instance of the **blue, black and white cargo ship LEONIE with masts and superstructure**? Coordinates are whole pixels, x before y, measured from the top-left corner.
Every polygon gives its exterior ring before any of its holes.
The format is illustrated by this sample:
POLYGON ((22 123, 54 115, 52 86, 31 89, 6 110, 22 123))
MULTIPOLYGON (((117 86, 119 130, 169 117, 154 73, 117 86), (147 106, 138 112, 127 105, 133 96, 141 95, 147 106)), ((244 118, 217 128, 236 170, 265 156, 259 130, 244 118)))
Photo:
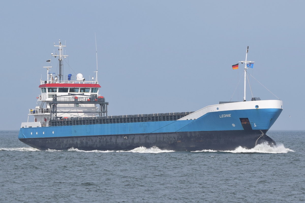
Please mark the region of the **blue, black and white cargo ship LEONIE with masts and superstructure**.
MULTIPOLYGON (((266 135, 282 112, 281 100, 246 101, 246 73, 254 61, 245 65, 244 98, 240 102, 220 102, 197 111, 154 114, 108 115, 108 102, 95 77, 86 81, 82 74, 63 75, 63 48, 59 40, 59 74, 46 69, 40 79, 37 106, 29 109, 27 122, 21 123, 18 138, 40 150, 131 150, 158 147, 175 151, 251 149, 267 142, 266 135)), ((48 60, 50 62, 50 60, 48 60)), ((238 64, 232 66, 233 69, 238 64)))

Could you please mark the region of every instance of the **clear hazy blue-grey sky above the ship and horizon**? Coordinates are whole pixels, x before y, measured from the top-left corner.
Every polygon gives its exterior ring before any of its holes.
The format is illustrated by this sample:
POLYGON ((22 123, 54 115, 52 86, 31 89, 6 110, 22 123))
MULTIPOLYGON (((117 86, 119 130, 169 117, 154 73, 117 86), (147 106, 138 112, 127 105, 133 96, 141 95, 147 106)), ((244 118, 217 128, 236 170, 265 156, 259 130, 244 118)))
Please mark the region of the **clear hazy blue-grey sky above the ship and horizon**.
MULTIPOLYGON (((231 65, 245 60, 249 46, 248 60, 255 61, 249 73, 284 103, 271 129, 303 130, 304 7, 305 1, 281 0, 2 2, 0 129, 19 129, 27 121, 41 76, 45 80, 42 67, 58 67, 57 58, 45 61, 59 39, 69 55, 64 75, 82 73, 89 80, 96 33, 108 115, 242 101, 243 81, 235 88, 243 68, 231 65)), ((249 77, 253 96, 277 99, 249 77)))

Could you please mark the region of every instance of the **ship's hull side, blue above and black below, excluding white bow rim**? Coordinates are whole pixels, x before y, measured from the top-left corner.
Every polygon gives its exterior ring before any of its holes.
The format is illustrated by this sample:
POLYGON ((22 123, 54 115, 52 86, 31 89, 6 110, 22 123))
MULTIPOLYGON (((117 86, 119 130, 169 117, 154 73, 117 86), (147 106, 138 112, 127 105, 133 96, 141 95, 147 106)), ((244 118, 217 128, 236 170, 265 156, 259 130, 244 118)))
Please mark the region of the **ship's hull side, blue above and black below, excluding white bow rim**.
POLYGON ((226 110, 204 114, 196 120, 21 128, 20 141, 37 149, 195 151, 253 148, 261 142, 275 144, 265 133, 282 109, 226 110), (243 118, 248 124, 243 124, 243 118))

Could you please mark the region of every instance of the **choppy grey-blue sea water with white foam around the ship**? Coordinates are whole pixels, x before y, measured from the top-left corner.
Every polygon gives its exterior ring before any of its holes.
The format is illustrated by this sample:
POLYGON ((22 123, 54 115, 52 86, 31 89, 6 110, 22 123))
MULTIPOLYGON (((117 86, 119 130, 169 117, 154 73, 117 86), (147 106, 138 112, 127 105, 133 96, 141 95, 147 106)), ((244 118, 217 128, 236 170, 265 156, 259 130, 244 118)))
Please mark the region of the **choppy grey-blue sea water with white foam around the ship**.
POLYGON ((0 202, 305 202, 305 131, 233 151, 40 151, 0 131, 0 202))

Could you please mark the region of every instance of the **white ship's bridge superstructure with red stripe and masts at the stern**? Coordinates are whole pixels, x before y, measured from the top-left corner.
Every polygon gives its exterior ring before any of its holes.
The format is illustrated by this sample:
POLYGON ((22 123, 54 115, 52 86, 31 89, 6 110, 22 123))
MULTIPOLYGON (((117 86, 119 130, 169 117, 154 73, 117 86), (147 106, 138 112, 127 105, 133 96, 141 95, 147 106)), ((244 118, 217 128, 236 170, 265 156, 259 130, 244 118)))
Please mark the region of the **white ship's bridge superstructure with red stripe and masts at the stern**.
MULTIPOLYGON (((59 54, 51 54, 59 61, 59 73, 52 72, 52 66, 45 66, 46 80, 40 79, 37 96, 37 106, 29 109, 29 116, 34 116, 34 122, 40 122, 41 126, 48 126, 49 121, 58 121, 71 117, 103 117, 107 116, 108 102, 99 94, 99 82, 96 76, 92 80, 85 80, 81 73, 76 75, 63 74, 63 60, 68 57, 63 55, 63 47, 59 40, 59 54)), ((47 62, 51 62, 51 59, 47 62)), ((32 121, 30 121, 32 122, 32 121)))

